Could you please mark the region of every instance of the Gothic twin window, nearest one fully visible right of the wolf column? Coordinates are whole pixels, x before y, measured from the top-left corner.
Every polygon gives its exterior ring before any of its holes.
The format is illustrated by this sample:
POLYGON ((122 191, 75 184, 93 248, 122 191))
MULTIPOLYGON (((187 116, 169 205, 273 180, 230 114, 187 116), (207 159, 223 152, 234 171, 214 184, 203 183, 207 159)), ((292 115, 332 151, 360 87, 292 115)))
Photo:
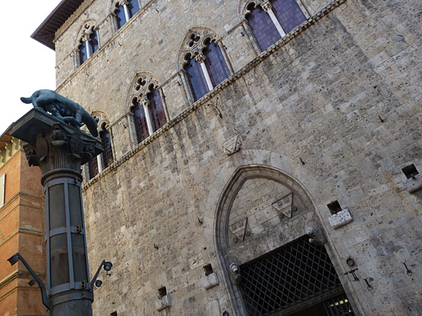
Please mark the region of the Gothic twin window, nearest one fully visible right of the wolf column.
POLYGON ((167 123, 167 110, 158 81, 151 75, 139 74, 134 83, 130 112, 133 114, 137 143, 167 123))

